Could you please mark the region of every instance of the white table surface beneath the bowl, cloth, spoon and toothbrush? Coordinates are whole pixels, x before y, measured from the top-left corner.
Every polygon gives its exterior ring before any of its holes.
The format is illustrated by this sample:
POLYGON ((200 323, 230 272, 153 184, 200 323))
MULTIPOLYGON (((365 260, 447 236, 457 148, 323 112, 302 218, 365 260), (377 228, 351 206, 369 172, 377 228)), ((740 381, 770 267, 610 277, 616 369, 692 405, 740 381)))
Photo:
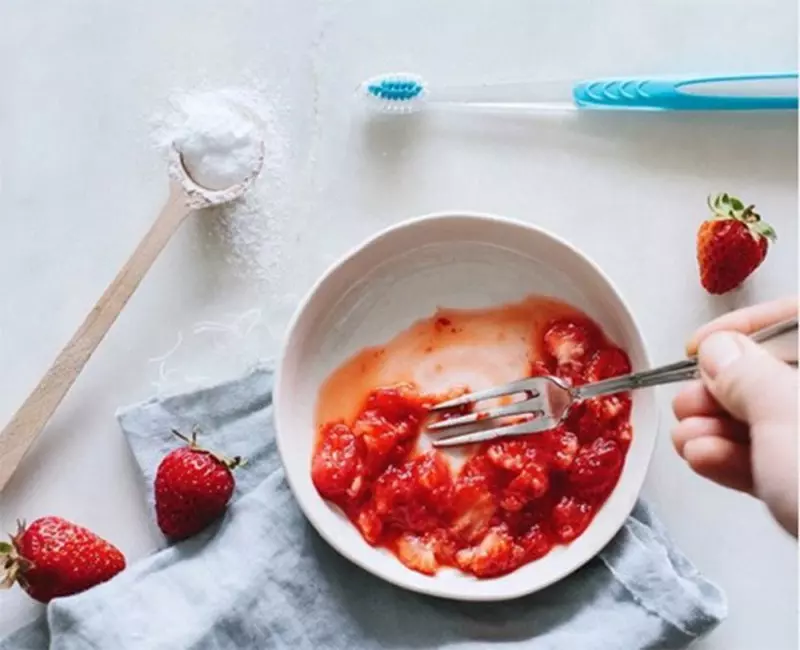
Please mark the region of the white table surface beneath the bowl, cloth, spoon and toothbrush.
MULTIPOLYGON (((255 80, 288 144, 274 207, 283 262, 239 279, 198 222, 171 242, 2 495, 0 529, 55 513, 135 560, 155 535, 114 411, 173 377, 218 378, 278 350, 294 301, 337 256, 401 219, 449 208, 541 224, 595 258, 630 301, 655 361, 737 305, 797 291, 793 117, 615 115, 433 119, 365 128, 351 91, 387 70, 432 83, 793 69, 792 0, 102 0, 0 3, 0 422, 11 417, 144 234, 166 195, 148 118, 171 91, 255 80), (757 203, 780 240, 747 287, 699 287, 694 237, 710 192, 757 203), (208 242, 206 242, 208 243, 208 242), (261 309, 246 339, 192 335, 261 309), (186 347, 188 346, 188 347, 186 347), (189 353, 186 353, 186 350, 189 353)), ((254 312, 255 313, 255 312, 254 312)), ((797 557, 755 501, 672 450, 671 391, 645 494, 727 591, 697 647, 797 647, 797 557)), ((0 635, 38 607, 0 595, 0 635)))

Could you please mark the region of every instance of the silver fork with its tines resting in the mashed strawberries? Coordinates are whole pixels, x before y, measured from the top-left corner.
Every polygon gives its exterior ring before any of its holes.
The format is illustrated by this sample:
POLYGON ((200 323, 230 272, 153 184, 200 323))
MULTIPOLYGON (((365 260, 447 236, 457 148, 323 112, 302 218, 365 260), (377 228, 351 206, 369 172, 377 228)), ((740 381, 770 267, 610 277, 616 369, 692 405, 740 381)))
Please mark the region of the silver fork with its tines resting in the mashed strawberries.
MULTIPOLYGON (((761 329, 755 332, 751 338, 767 347, 781 360, 797 364, 797 318, 761 329)), ((530 377, 437 404, 431 408, 432 412, 447 412, 467 404, 520 393, 526 395, 525 399, 505 406, 479 410, 468 415, 434 422, 428 425, 427 430, 454 431, 452 436, 434 440, 432 443, 434 447, 454 447, 506 436, 541 433, 563 422, 570 407, 576 402, 591 397, 686 381, 698 376, 697 359, 692 358, 660 368, 612 377, 574 388, 558 377, 530 377), (482 428, 499 418, 522 415, 532 417, 517 424, 482 428)))

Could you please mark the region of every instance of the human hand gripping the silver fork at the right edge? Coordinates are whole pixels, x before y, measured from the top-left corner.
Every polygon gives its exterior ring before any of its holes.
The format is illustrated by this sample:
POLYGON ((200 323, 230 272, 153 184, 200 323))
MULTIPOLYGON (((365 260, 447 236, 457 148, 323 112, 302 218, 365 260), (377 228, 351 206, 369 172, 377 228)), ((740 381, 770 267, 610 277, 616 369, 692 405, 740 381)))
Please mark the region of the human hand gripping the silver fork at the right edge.
POLYGON ((797 298, 726 314, 687 345, 702 379, 674 399, 675 449, 700 476, 761 499, 797 536, 797 370, 745 334, 797 315, 797 298), (739 333, 741 332, 741 333, 739 333))

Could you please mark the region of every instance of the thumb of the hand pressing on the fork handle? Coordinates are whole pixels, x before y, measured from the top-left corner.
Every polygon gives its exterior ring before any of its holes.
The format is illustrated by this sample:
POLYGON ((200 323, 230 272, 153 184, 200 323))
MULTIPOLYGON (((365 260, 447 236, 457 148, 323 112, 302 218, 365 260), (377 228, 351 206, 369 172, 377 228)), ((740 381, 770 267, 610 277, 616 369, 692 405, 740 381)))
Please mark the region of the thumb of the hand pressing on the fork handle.
POLYGON ((700 343, 700 372, 717 402, 751 427, 796 416, 797 372, 738 332, 700 343))

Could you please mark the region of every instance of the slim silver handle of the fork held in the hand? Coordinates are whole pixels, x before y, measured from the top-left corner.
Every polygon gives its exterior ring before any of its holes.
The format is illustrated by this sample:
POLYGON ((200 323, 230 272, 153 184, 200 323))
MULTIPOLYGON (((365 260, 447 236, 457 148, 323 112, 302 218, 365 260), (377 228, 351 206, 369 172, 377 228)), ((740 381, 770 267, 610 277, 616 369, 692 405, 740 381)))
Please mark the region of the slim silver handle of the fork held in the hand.
MULTIPOLYGON (((781 361, 797 364, 797 318, 770 325, 758 330, 751 338, 781 361)), ((573 389, 574 399, 588 399, 612 395, 626 390, 661 386, 699 377, 697 357, 678 361, 652 370, 635 372, 622 377, 585 384, 573 389)))

